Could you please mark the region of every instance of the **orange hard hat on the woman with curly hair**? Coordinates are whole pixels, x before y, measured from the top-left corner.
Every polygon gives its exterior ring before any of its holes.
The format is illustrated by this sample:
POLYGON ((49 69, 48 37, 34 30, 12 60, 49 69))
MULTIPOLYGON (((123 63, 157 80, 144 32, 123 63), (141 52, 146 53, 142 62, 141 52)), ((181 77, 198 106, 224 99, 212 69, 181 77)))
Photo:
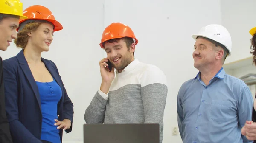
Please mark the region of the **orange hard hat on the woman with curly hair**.
MULTIPOLYGON (((61 23, 55 20, 54 15, 52 12, 40 5, 34 5, 34 6, 29 6, 23 11, 23 15, 28 17, 27 19, 20 19, 19 23, 21 24, 22 22, 25 22, 26 20, 46 20, 48 22, 51 22, 52 25, 54 25, 54 31, 59 31, 63 29, 61 23)), ((19 28, 17 28, 18 31, 19 28)))

